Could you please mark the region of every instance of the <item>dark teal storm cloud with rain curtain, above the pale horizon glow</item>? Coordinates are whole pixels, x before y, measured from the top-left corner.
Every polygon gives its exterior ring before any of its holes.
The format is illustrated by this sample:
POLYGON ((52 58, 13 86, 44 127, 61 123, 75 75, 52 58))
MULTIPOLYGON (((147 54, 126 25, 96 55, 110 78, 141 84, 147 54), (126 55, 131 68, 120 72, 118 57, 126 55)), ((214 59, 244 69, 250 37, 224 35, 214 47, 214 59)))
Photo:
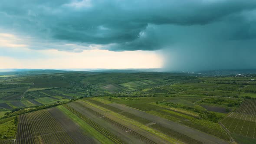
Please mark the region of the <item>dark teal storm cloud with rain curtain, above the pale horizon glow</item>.
MULTIPOLYGON (((230 68, 256 68, 251 63, 256 60, 255 24, 255 0, 0 3, 0 28, 10 33, 31 36, 37 42, 42 39, 42 43, 73 43, 84 49, 91 44, 111 51, 164 49, 169 69, 222 69, 228 64, 230 68), (187 65, 189 62, 194 64, 187 65)), ((48 48, 54 46, 30 46, 48 48)), ((55 49, 72 51, 75 46, 55 49)))

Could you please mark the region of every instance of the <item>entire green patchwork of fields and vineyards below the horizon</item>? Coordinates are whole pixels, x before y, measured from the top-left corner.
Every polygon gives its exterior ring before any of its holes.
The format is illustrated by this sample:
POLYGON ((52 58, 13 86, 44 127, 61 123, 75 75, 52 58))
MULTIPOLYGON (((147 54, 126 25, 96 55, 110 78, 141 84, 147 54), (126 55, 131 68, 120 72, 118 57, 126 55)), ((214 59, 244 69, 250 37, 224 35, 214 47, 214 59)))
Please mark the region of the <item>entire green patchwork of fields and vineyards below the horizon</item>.
POLYGON ((256 100, 250 79, 154 72, 5 74, 0 143, 253 143, 256 100))

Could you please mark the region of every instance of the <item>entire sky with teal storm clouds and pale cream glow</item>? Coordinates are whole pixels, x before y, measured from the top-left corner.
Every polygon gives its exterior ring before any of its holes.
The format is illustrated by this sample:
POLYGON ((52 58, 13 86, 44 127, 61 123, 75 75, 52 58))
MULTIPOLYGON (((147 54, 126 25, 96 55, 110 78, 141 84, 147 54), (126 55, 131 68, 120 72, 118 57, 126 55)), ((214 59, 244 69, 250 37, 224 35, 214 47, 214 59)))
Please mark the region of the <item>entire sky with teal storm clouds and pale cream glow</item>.
POLYGON ((256 0, 1 0, 14 68, 256 69, 256 0))

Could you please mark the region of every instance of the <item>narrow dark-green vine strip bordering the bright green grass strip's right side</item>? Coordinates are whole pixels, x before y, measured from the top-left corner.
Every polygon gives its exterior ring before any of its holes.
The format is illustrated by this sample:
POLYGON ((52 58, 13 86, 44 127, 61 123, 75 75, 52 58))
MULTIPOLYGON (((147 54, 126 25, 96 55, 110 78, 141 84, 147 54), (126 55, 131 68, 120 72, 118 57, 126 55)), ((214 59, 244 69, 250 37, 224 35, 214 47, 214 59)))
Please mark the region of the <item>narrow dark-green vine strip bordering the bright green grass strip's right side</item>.
POLYGON ((107 131, 105 128, 102 128, 100 125, 98 125, 97 123, 95 123, 94 121, 92 121, 91 119, 87 118, 85 115, 82 115, 81 113, 79 113, 78 111, 76 111, 74 108, 70 107, 69 105, 63 105, 65 108, 67 108, 69 111, 71 111, 72 113, 74 113, 75 115, 77 115, 79 118, 81 118, 82 120, 84 120, 85 122, 87 122, 89 125, 92 126, 92 128, 94 128, 95 130, 99 131, 100 133, 102 133, 103 135, 105 135, 106 137, 108 137, 110 140, 112 140, 113 142, 115 142, 116 144, 122 144, 123 142, 116 137, 114 134, 112 134, 111 132, 107 131))

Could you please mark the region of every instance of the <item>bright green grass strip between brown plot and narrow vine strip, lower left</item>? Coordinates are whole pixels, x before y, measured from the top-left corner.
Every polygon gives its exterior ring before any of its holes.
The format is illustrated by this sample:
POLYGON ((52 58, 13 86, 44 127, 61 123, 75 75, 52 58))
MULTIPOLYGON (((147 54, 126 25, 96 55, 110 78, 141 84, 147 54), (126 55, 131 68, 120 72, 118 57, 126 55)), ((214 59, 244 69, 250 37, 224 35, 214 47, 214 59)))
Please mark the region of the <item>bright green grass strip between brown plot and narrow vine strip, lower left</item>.
POLYGON ((58 108, 66 114, 69 118, 72 119, 76 124, 79 125, 80 128, 82 128, 83 131, 86 133, 90 133, 93 137, 96 137, 98 141, 100 141, 102 144, 113 144, 112 141, 110 141, 107 137, 96 131, 94 128, 92 128, 89 124, 87 124, 85 121, 83 121, 81 118, 73 114, 71 111, 63 107, 62 105, 59 105, 58 108))

